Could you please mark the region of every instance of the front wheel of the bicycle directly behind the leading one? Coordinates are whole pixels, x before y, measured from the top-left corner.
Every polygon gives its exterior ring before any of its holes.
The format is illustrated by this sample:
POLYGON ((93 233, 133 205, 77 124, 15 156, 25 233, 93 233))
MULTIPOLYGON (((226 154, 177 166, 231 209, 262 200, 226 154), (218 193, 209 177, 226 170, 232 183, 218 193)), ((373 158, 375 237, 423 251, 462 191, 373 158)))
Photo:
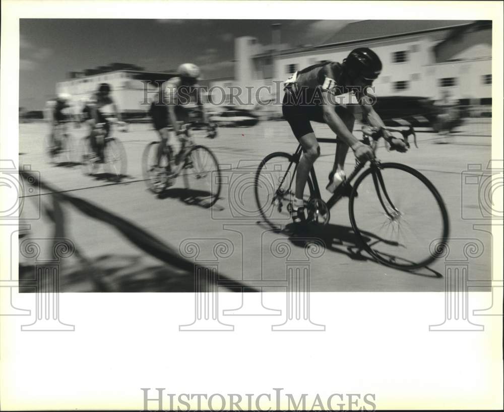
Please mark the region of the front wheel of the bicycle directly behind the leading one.
POLYGON ((184 201, 210 208, 219 199, 221 172, 219 162, 210 149, 193 146, 183 159, 184 183, 187 192, 184 201))

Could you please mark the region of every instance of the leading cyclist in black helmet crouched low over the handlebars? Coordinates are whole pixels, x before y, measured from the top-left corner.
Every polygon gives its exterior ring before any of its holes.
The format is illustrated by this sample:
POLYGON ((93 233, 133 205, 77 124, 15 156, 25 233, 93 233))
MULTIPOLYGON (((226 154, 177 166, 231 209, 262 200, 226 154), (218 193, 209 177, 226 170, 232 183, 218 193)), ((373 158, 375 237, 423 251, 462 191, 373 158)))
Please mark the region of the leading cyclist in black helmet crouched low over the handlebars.
MULTIPOLYGON (((334 192, 346 178, 344 163, 349 147, 360 162, 372 157, 371 148, 352 134, 355 106, 340 104, 335 96, 354 94, 369 124, 385 126, 373 110, 373 97, 367 93, 367 88, 381 71, 382 62, 376 53, 367 47, 359 47, 352 50, 342 63, 321 61, 295 72, 285 81, 282 112, 304 152, 296 173, 295 198, 292 205, 292 218, 295 223, 306 220, 304 187, 309 170, 320 156, 320 147, 310 121, 326 123, 336 133, 338 142, 335 160, 326 186, 330 192, 334 192)), ((384 131, 384 138, 390 144, 391 150, 407 151, 404 142, 393 138, 387 131, 384 131)))

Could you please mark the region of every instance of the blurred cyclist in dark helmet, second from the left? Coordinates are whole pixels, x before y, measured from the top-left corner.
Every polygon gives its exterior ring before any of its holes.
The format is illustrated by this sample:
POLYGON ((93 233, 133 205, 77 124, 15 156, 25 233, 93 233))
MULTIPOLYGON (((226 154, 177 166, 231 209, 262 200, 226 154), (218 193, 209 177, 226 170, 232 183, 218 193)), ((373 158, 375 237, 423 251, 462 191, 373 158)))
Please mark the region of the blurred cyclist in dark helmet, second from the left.
POLYGON ((114 116, 117 117, 121 125, 124 125, 117 105, 110 96, 111 91, 112 88, 108 83, 101 83, 98 90, 85 102, 82 110, 82 120, 89 126, 91 149, 95 153, 95 157, 91 159, 91 162, 103 162, 104 160, 103 143, 110 132, 110 122, 101 111, 103 106, 111 105, 114 116))

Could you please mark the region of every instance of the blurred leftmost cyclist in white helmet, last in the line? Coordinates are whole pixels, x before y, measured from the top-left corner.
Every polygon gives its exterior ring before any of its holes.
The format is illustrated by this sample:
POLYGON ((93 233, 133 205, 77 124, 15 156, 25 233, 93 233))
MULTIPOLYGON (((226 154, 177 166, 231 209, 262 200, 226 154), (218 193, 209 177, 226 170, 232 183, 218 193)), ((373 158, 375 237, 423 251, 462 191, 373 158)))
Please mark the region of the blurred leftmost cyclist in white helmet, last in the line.
POLYGON ((56 98, 48 100, 45 104, 46 118, 50 127, 49 153, 53 156, 61 150, 61 142, 55 139, 58 129, 65 138, 68 138, 67 122, 71 119, 77 122, 77 116, 74 116, 72 113, 73 107, 71 100, 72 96, 70 94, 60 93, 56 98))

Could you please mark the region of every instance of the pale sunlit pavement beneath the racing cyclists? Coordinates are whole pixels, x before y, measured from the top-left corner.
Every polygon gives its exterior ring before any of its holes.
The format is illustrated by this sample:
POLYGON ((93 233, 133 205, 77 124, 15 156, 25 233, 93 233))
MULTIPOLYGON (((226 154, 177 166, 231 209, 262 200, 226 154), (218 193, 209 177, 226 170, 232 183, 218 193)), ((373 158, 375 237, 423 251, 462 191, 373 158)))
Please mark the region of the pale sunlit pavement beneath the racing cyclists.
MULTIPOLYGON (((357 128, 358 126, 356 126, 357 128)), ((325 125, 315 124, 321 138, 334 135, 325 125)), ((396 270, 372 260, 360 251, 351 231, 348 200, 342 199, 331 211, 328 226, 318 229, 325 247, 309 256, 286 234, 274 233, 258 216, 243 213, 254 210, 253 186, 240 185, 236 193, 236 179, 253 179, 259 162, 269 153, 293 153, 297 143, 284 121, 262 121, 254 127, 221 127, 216 139, 199 139, 208 146, 223 168, 224 186, 221 198, 212 209, 183 201, 182 179, 178 179, 171 195, 158 198, 148 191, 142 177, 141 158, 146 145, 157 139, 150 124, 131 124, 125 133, 113 134, 122 142, 128 159, 127 176, 113 183, 100 177, 87 176, 78 164, 54 165, 44 153, 47 125, 21 123, 19 125, 20 167, 30 165, 40 179, 58 192, 85 199, 98 207, 125 219, 148 234, 158 238, 182 256, 203 265, 218 267, 221 274, 241 285, 257 286, 259 281, 285 279, 291 262, 307 264, 312 292, 419 292, 444 291, 445 273, 450 262, 470 262, 469 277, 488 280, 491 277, 491 238, 484 227, 478 200, 478 185, 464 180, 468 165, 481 165, 483 174, 491 158, 491 123, 488 120, 466 122, 452 136, 443 140, 428 129, 418 129, 418 146, 406 154, 387 152, 380 148, 378 157, 383 162, 405 163, 423 173, 442 194, 450 214, 450 254, 429 267, 414 272, 396 270), (244 177, 245 176, 245 177, 244 177), (241 209, 240 209, 241 208, 241 209), (241 212, 240 212, 241 210, 241 212), (241 214, 240 214, 241 213, 241 214), (468 239, 476 239, 481 253, 468 256, 464 246, 468 239), (464 243, 465 242, 465 243, 464 243), (191 245, 197 244, 197 252, 191 245), (282 244, 288 253, 278 253, 282 244), (275 249, 277 248, 277 249, 275 249)), ((84 128, 71 128, 77 146, 84 128)), ((321 189, 332 167, 335 146, 321 144, 321 157, 316 163, 321 189)), ((347 174, 353 169, 354 158, 347 157, 347 174)), ((398 187, 405 182, 397 182, 398 187)), ((54 196, 39 190, 23 197, 22 220, 30 225, 28 238, 54 237, 54 223, 45 211, 54 208, 54 196), (37 217, 38 211, 40 219, 37 217)), ((329 193, 324 193, 327 200, 329 193)), ((424 199, 410 199, 418 214, 425 212, 424 199)), ((62 292, 192 292, 191 273, 180 270, 139 249, 112 225, 90 219, 71 205, 61 205, 64 218, 63 236, 78 250, 62 265, 62 292)), ((428 216, 428 215, 427 215, 428 216)), ((425 233, 431 222, 424 221, 425 233)), ((60 233, 61 234, 61 233, 60 233)), ((425 244, 422 247, 427 247, 425 244)), ((20 256, 20 278, 32 276, 28 258, 20 256)), ((274 282, 273 282, 274 283, 274 282)), ((233 290, 233 288, 228 288, 233 290)), ((276 290, 275 287, 267 287, 276 290)))

